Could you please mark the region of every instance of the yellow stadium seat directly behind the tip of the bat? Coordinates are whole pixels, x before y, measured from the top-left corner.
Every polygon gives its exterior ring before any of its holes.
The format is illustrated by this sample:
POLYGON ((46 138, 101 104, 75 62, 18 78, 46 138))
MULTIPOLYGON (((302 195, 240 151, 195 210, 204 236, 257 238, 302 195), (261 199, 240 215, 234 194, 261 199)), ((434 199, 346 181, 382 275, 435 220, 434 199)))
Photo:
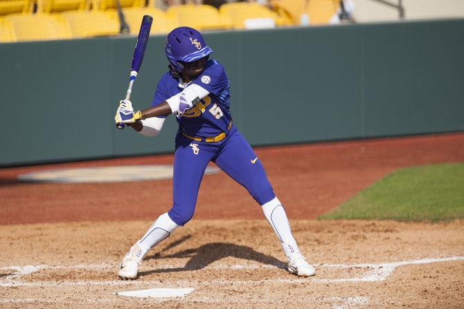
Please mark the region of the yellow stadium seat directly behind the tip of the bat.
MULTIPOLYGON (((124 8, 123 13, 125 21, 130 28, 130 34, 132 35, 139 34, 143 15, 150 15, 153 17, 152 30, 150 30, 151 34, 168 33, 177 26, 175 21, 168 19, 166 13, 158 8, 124 8)), ((116 11, 114 15, 117 19, 116 11)))

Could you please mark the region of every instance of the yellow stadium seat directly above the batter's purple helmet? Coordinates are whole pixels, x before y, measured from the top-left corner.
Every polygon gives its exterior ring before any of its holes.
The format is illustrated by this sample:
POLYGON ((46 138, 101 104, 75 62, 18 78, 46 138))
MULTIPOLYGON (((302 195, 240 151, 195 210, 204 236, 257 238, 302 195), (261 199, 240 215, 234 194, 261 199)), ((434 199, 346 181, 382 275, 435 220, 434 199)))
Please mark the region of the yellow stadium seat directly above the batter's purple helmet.
POLYGON ((229 19, 222 18, 217 8, 204 4, 171 6, 166 14, 172 19, 177 19, 179 25, 198 30, 230 29, 233 26, 229 19))

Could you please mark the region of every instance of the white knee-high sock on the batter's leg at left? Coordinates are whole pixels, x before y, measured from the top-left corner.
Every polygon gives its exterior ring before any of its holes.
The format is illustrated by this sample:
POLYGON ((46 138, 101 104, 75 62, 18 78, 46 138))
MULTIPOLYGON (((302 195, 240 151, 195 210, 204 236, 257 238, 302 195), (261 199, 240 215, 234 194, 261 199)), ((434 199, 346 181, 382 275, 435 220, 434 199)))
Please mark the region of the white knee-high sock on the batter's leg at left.
MULTIPOLYGON (((171 220, 167 212, 159 216, 145 235, 137 241, 136 245, 139 245, 139 248, 137 248, 139 252, 136 253, 136 256, 141 260, 148 250, 168 238, 177 227, 179 227, 179 225, 171 220)), ((134 247, 136 247, 136 245, 134 245, 134 247)))

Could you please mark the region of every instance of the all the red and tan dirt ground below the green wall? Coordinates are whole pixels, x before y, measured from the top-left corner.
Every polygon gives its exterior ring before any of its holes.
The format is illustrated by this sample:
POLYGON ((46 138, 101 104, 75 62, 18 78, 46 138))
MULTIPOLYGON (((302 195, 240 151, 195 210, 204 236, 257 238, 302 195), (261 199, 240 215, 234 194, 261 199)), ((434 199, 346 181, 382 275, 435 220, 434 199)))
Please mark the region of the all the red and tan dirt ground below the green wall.
POLYGON ((398 167, 464 162, 464 134, 256 153, 315 277, 285 271, 259 207, 220 173, 205 176, 193 221, 148 254, 141 278, 119 281, 125 250, 169 208, 170 180, 15 178, 57 167, 172 164, 172 156, 18 167, 0 169, 0 308, 464 308, 464 221, 312 220, 398 167), (150 288, 195 290, 175 299, 113 294, 150 288))

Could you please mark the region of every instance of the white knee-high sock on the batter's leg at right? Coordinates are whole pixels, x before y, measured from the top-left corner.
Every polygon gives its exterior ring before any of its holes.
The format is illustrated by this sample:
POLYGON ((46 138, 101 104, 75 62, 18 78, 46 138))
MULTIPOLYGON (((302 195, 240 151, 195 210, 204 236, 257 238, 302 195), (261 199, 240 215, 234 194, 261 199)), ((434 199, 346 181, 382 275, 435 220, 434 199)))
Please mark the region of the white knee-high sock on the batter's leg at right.
POLYGON ((289 257, 293 254, 299 254, 300 250, 296 245, 292 230, 290 230, 287 214, 285 214, 285 209, 278 198, 274 198, 262 205, 262 212, 264 212, 267 221, 276 232, 285 255, 289 257))

